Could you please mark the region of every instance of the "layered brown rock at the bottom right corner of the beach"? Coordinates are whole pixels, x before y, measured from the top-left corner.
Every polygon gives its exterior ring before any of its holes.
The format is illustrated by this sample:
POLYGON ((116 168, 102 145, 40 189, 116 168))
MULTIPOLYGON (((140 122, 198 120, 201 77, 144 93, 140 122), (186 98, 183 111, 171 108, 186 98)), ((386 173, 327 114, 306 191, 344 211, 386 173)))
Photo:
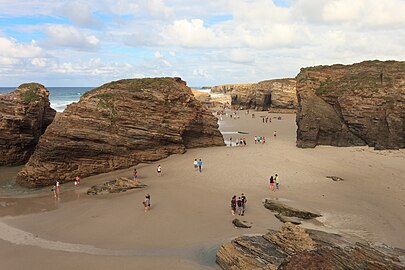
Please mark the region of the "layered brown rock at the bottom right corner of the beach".
POLYGON ((353 241, 285 223, 279 232, 241 236, 223 244, 217 263, 226 270, 400 270, 405 251, 353 241))

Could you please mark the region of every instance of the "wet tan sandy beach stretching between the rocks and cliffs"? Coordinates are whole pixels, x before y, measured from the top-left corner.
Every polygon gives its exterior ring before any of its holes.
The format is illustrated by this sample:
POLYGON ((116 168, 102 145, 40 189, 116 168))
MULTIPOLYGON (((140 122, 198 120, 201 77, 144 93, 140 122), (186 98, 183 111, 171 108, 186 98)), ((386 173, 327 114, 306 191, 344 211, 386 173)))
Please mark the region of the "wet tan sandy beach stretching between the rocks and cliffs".
POLYGON ((140 181, 148 185, 144 190, 85 194, 96 183, 131 177, 129 168, 83 179, 77 189, 73 183, 64 184, 59 200, 50 188, 29 197, 1 196, 0 268, 218 268, 215 253, 221 243, 281 226, 263 207, 264 198, 322 214, 319 222, 306 227, 405 248, 403 149, 299 149, 294 114, 254 113, 255 118, 241 111, 240 119, 220 121, 226 142, 244 137, 246 147, 191 149, 137 165, 140 181), (261 116, 272 117, 272 122, 262 123, 261 116), (282 119, 273 118, 277 116, 282 119), (255 135, 265 136, 266 143, 255 144, 255 135), (202 173, 193 168, 195 158, 203 161, 202 173), (161 177, 156 175, 158 164, 161 177), (268 179, 276 173, 281 186, 273 192, 268 179), (251 229, 231 223, 230 199, 242 192, 248 203, 240 219, 251 223, 251 229), (145 213, 141 203, 147 193, 152 209, 145 213))

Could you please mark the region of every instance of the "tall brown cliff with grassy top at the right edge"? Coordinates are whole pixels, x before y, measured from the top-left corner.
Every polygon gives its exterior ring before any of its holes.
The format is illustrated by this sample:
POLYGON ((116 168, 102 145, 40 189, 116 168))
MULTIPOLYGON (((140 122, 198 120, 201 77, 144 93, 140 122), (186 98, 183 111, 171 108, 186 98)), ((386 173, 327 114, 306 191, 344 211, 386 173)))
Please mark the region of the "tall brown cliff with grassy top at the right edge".
POLYGON ((405 62, 303 68, 297 146, 405 147, 405 62))

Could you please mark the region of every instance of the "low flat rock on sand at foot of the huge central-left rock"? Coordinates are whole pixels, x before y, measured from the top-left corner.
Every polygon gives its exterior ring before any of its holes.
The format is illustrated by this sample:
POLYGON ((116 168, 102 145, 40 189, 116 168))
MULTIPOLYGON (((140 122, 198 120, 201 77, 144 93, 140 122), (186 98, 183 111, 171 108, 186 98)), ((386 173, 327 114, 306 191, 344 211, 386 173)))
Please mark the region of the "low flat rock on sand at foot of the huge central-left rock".
POLYGON ((128 178, 118 178, 116 180, 108 181, 107 183, 101 185, 95 185, 87 190, 87 195, 99 195, 107 193, 120 193, 125 192, 134 188, 145 188, 147 185, 138 184, 136 185, 133 180, 128 178))

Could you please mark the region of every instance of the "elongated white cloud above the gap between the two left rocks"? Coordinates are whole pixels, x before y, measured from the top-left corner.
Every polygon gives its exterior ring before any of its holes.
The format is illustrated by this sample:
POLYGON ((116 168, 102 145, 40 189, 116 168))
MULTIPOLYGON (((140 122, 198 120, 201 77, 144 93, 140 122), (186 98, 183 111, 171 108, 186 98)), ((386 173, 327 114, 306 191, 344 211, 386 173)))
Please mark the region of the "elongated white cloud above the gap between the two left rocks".
POLYGON ((45 46, 65 47, 83 51, 97 50, 100 40, 91 34, 83 34, 77 28, 68 25, 49 25, 45 33, 48 40, 45 46))

